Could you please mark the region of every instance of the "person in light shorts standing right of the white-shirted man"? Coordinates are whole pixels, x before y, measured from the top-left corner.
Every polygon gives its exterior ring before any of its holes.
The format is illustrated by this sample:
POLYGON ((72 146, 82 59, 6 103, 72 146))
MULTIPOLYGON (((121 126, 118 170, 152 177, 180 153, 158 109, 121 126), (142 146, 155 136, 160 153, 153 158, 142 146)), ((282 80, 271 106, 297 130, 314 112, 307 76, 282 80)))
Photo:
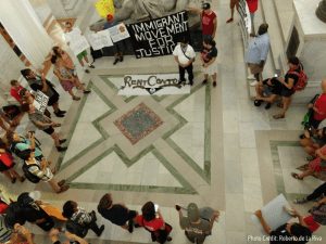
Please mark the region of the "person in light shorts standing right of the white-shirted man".
POLYGON ((204 80, 202 81, 205 85, 209 80, 209 76, 212 76, 213 87, 217 85, 217 65, 215 63, 217 56, 216 43, 212 37, 206 37, 203 40, 203 49, 201 51, 201 61, 202 61, 202 72, 204 74, 204 80))

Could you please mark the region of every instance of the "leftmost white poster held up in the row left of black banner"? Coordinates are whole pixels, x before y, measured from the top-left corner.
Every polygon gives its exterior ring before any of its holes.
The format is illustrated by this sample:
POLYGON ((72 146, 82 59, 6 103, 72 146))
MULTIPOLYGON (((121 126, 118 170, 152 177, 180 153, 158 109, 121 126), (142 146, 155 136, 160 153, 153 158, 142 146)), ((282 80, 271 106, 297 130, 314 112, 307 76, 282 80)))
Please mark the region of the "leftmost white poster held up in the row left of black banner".
POLYGON ((79 28, 73 28, 72 31, 66 33, 66 41, 75 55, 89 48, 87 39, 82 35, 79 28))

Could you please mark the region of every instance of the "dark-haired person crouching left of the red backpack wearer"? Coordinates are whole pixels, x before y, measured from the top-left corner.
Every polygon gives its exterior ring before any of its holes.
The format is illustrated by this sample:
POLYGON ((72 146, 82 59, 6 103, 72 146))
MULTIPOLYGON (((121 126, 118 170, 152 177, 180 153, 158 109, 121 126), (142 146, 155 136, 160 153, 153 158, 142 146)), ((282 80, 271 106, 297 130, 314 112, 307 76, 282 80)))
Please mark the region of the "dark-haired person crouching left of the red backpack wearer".
POLYGON ((255 85, 255 92, 254 105, 260 106, 262 102, 266 102, 265 110, 269 110, 281 93, 281 85, 277 81, 276 77, 265 79, 263 82, 255 85))

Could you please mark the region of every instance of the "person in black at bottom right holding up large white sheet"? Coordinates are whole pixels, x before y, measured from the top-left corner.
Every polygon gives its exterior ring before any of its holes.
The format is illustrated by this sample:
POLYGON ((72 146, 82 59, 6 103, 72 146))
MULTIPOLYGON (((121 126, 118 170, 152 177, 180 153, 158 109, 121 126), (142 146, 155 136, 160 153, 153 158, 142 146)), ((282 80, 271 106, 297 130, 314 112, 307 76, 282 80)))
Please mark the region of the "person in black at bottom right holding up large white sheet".
POLYGON ((261 210, 256 210, 254 215, 258 217, 259 221, 261 222, 264 231, 269 235, 269 243, 271 244, 304 244, 308 243, 311 239, 312 231, 303 221, 301 215, 298 214, 296 209, 291 209, 292 216, 297 217, 299 223, 297 222, 288 222, 281 224, 280 227, 272 230, 271 227, 266 223, 263 214, 261 210))

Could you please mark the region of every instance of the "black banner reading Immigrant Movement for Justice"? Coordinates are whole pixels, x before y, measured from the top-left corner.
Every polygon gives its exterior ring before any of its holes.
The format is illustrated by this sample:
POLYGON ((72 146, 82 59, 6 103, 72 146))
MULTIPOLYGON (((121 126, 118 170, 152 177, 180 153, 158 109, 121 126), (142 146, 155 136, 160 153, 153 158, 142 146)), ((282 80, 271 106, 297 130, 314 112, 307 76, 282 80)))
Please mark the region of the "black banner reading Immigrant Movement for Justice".
POLYGON ((137 59, 170 55, 181 37, 190 37, 186 11, 130 24, 127 29, 137 59))

